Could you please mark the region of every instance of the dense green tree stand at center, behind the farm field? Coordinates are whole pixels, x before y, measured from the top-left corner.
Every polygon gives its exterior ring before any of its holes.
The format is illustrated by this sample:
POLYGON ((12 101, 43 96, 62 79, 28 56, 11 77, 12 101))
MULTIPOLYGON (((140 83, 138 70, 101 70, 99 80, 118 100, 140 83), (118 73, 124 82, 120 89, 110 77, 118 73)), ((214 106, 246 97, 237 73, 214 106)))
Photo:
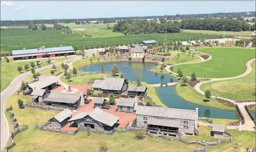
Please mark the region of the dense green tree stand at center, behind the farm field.
POLYGON ((124 35, 148 34, 148 33, 178 33, 180 24, 178 21, 161 20, 123 20, 113 26, 113 32, 124 35))

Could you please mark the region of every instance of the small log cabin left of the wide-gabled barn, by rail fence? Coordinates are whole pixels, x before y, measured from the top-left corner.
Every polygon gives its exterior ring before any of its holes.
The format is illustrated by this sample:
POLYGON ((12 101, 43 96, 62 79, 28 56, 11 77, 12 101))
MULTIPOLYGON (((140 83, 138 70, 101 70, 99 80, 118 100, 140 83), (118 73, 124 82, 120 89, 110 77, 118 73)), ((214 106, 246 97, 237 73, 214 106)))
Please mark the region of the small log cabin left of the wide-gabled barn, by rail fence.
POLYGON ((51 127, 55 128, 62 128, 66 124, 68 124, 68 120, 71 118, 72 111, 69 109, 65 109, 64 111, 61 111, 59 114, 51 118, 49 121, 51 122, 51 127))

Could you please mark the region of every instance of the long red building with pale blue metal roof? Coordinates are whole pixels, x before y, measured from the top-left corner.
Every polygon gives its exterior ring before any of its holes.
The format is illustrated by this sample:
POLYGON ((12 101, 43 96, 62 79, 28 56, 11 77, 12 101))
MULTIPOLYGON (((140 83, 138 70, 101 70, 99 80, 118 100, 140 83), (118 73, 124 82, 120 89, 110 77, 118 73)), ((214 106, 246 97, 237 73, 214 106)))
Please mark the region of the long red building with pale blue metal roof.
POLYGON ((21 50, 13 50, 13 60, 22 60, 31 59, 32 57, 41 58, 41 57, 55 57, 55 56, 64 56, 67 55, 75 55, 75 50, 72 46, 63 47, 54 47, 54 48, 45 48, 42 46, 40 48, 26 49, 23 48, 21 50))

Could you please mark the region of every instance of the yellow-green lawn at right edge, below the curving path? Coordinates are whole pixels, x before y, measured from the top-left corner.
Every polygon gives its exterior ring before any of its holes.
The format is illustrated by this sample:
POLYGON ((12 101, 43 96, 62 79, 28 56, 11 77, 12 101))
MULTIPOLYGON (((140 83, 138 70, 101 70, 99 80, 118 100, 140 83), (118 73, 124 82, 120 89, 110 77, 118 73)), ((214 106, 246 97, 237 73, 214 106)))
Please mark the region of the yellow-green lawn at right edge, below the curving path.
POLYGON ((236 100, 255 100, 252 93, 255 91, 256 78, 255 78, 255 61, 251 64, 253 70, 248 76, 237 79, 215 81, 204 83, 200 86, 204 92, 211 90, 213 95, 217 94, 219 97, 236 100), (251 77, 252 76, 252 77, 251 77), (252 78, 252 88, 250 88, 252 78))

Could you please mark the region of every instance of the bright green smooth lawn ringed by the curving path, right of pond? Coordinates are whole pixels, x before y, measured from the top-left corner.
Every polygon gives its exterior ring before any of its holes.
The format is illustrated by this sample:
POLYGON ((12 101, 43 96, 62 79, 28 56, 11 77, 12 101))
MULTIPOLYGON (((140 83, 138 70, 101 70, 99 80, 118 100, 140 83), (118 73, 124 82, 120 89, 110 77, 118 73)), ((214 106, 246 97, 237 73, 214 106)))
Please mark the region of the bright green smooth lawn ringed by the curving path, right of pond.
POLYGON ((181 69, 184 75, 190 76, 195 71, 198 77, 222 78, 239 76, 246 71, 246 62, 255 58, 254 49, 245 48, 202 48, 200 52, 210 54, 207 62, 177 65, 173 70, 181 69))

